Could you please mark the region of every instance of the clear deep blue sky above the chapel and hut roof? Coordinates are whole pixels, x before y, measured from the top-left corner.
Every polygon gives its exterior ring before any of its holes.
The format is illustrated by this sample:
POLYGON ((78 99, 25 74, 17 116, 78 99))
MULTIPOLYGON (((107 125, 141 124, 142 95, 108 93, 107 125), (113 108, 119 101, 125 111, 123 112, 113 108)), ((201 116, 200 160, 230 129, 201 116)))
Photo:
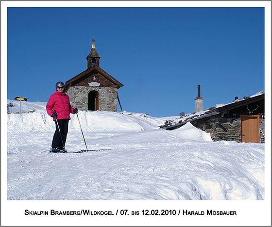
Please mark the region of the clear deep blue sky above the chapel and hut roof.
MULTIPOLYGON (((100 67, 123 109, 152 116, 264 91, 264 8, 8 8, 7 97, 48 101, 57 81, 100 67)), ((118 109, 120 110, 120 108, 118 109)))

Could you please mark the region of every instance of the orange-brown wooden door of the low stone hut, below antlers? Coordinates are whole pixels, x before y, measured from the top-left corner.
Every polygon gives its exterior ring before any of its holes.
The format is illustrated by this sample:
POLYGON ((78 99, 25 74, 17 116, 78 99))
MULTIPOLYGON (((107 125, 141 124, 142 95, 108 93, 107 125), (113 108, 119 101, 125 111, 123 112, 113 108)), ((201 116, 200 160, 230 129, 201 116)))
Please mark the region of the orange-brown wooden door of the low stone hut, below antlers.
POLYGON ((260 143, 260 116, 240 115, 241 142, 260 143))

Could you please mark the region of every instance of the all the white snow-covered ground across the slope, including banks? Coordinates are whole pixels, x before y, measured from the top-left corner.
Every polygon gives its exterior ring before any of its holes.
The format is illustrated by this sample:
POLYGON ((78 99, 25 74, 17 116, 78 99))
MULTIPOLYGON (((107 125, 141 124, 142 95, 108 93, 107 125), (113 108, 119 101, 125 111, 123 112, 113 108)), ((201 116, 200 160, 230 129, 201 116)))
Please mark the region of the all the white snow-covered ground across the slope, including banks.
MULTIPOLYGON (((91 151, 49 154, 45 105, 22 101, 8 114, 8 200, 264 199, 264 144, 212 142, 190 123, 159 129, 178 116, 80 111, 91 151)), ((86 149, 73 114, 66 148, 86 149)))

